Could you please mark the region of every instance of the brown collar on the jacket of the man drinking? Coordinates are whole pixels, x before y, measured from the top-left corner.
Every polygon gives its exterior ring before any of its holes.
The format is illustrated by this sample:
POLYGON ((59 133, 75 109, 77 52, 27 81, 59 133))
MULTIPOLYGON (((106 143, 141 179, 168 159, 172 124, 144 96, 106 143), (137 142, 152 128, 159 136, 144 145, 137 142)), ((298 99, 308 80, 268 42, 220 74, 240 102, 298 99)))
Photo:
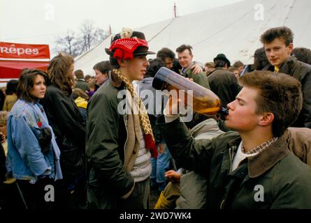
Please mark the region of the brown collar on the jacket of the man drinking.
POLYGON ((269 148, 252 157, 248 157, 248 174, 249 178, 256 178, 264 174, 268 169, 273 167, 277 162, 288 155, 287 134, 283 134, 269 148))

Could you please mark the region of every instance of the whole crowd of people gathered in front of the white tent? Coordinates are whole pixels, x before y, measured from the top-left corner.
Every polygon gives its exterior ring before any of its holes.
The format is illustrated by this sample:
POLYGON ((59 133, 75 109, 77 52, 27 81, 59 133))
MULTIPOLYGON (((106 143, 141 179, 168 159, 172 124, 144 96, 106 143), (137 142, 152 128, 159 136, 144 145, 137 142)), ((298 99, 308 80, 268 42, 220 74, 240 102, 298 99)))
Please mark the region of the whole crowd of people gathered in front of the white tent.
POLYGON ((311 51, 286 26, 260 40, 252 65, 203 64, 191 45, 152 52, 125 28, 94 77, 65 53, 22 70, 0 91, 0 208, 311 208, 311 51), (162 67, 229 113, 183 120, 181 98, 155 100, 162 67))

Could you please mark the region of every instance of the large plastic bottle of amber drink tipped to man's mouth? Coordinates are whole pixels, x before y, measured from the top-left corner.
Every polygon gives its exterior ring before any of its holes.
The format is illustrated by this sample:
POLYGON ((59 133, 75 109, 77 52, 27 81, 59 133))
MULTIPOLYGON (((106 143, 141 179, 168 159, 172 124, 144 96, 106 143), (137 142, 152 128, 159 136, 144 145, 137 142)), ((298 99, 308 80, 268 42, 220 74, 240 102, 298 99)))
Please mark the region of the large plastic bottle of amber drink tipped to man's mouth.
MULTIPOLYGON (((218 96, 210 91, 205 89, 205 87, 191 82, 191 80, 178 75, 178 73, 169 70, 168 68, 160 68, 157 74, 154 76, 152 86, 157 90, 184 90, 185 98, 187 94, 192 96, 192 105, 194 111, 205 114, 205 115, 215 115, 217 113, 223 114, 226 116, 228 110, 221 106, 221 101, 218 96), (192 92, 188 91, 192 90, 192 92)), ((184 92, 182 91, 182 92, 184 92)), ((185 100, 187 105, 187 100, 185 100)))

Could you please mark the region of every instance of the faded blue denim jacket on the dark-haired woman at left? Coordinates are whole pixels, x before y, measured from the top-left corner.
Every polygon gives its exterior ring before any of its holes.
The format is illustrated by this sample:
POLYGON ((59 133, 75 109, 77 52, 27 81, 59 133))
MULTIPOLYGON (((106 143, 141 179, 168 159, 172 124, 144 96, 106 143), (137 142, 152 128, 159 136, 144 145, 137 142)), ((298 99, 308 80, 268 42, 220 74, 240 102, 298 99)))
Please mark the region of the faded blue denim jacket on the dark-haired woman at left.
MULTIPOLYGON (((42 105, 38 104, 42 110, 42 105)), ((8 116, 8 172, 20 180, 36 180, 42 176, 54 178, 55 166, 52 148, 43 153, 38 142, 44 122, 24 100, 17 100, 8 116)))

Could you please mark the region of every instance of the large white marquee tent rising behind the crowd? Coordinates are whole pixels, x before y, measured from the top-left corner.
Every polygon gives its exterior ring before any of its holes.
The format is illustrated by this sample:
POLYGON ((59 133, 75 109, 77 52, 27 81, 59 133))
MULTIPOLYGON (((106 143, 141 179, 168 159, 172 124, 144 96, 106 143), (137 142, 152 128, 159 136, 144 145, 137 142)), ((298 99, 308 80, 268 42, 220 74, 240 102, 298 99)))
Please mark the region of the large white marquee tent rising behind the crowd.
MULTIPOLYGON (((205 63, 223 53, 231 63, 252 63, 254 51, 262 47, 261 33, 275 26, 288 26, 294 32, 294 47, 310 48, 310 10, 310 0, 246 0, 135 30, 145 33, 154 52, 162 47, 175 52, 178 46, 189 44, 195 61, 205 63)), ((104 48, 110 46, 110 38, 76 57, 75 69, 94 74, 94 64, 109 59, 104 48)))

